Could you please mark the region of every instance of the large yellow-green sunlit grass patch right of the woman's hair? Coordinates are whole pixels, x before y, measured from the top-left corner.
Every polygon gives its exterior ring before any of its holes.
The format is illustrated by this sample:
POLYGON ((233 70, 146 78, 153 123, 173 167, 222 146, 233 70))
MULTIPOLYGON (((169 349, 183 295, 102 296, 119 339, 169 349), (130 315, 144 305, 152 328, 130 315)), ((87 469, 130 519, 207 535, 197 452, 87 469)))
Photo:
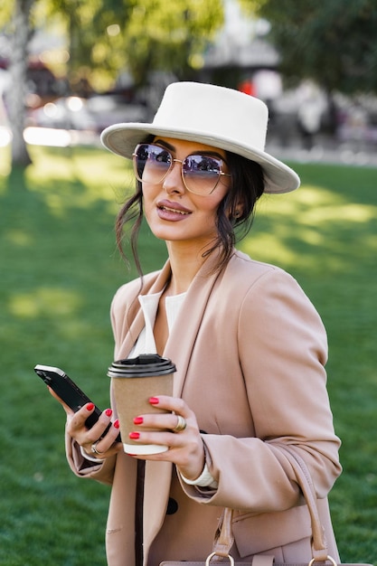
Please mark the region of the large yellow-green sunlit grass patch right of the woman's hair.
MULTIPOLYGON (((255 259, 285 265, 299 265, 301 269, 317 267, 318 261, 331 259, 331 269, 341 269, 349 261, 345 253, 334 254, 335 226, 341 231, 352 231, 357 224, 372 223, 376 218, 376 205, 350 203, 347 195, 334 193, 325 186, 302 184, 296 193, 271 197, 259 201, 256 219, 250 234, 240 242, 240 248, 255 259), (305 252, 316 250, 316 253, 305 252)), ((376 238, 363 236, 363 245, 376 238)), ((355 241, 350 242, 355 245, 355 241)), ((344 241, 345 246, 345 241, 344 241)))

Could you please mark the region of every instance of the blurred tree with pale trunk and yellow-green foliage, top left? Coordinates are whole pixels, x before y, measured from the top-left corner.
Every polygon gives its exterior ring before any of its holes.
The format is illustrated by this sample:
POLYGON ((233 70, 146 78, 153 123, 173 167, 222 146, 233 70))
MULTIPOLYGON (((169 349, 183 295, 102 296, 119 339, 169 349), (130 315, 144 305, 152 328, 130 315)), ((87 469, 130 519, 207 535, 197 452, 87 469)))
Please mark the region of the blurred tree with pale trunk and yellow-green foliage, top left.
POLYGON ((0 25, 12 36, 11 125, 13 163, 30 163, 24 144, 28 42, 34 26, 48 28, 52 18, 65 27, 71 86, 89 80, 106 90, 121 71, 134 86, 152 71, 190 79, 200 67, 206 45, 223 22, 221 0, 9 0, 0 5, 0 25), (9 23, 14 8, 12 23, 9 23), (32 11, 33 8, 33 11, 32 11), (16 31, 16 33, 15 33, 16 31))

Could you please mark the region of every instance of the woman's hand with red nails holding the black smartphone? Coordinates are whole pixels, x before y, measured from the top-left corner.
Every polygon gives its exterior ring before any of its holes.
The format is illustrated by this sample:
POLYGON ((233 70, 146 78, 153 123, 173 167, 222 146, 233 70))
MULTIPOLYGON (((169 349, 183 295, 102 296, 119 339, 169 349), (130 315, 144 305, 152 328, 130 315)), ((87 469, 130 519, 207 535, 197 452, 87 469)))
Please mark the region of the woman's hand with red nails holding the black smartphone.
POLYGON ((67 413, 66 431, 70 437, 84 449, 90 458, 108 458, 119 452, 122 449, 122 443, 116 442, 119 434, 119 421, 115 420, 108 432, 102 437, 108 424, 111 423, 112 410, 104 410, 99 420, 93 425, 91 429, 85 426, 85 421, 90 417, 94 411, 93 403, 86 403, 80 410, 74 412, 68 407, 60 397, 56 395, 51 388, 49 391, 57 401, 61 403, 62 408, 67 413), (93 449, 94 448, 94 449, 93 449))

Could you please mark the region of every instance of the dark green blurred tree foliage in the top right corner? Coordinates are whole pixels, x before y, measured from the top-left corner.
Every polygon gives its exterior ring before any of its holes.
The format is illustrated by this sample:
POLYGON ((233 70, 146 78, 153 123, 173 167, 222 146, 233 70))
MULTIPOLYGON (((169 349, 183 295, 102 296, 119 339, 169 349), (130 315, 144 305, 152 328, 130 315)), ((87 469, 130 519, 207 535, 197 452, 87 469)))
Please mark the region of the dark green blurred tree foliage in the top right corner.
POLYGON ((284 77, 327 92, 377 91, 375 0, 240 0, 271 24, 284 77))

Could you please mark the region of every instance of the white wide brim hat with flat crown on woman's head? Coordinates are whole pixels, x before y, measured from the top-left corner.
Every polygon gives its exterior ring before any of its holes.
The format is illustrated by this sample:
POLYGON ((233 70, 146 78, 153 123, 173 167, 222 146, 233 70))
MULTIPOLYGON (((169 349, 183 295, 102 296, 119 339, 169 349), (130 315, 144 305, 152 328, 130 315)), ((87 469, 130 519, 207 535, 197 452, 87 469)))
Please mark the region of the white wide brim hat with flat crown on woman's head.
POLYGON ((114 124, 102 132, 101 141, 128 159, 150 135, 218 147, 259 163, 265 193, 289 193, 297 189, 300 179, 264 150, 268 121, 266 104, 248 94, 211 84, 174 82, 166 88, 151 124, 114 124))

